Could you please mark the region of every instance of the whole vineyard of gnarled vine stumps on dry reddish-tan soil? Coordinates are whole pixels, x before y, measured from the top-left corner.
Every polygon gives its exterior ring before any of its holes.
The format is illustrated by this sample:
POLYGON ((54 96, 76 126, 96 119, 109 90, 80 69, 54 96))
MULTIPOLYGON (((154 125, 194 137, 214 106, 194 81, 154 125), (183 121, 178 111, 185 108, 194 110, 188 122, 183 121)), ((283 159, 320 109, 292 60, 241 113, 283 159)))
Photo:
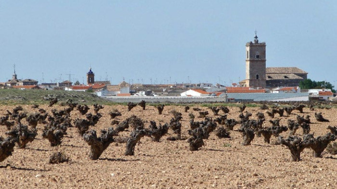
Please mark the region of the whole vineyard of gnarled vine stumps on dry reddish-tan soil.
POLYGON ((2 188, 336 188, 335 107, 0 106, 2 188))

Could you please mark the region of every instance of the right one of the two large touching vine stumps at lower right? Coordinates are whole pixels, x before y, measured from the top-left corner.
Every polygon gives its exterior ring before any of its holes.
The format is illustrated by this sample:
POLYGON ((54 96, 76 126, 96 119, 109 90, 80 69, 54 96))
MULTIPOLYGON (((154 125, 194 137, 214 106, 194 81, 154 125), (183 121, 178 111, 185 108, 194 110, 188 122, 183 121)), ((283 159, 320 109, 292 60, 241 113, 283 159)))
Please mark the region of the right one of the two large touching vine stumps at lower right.
POLYGON ((326 133, 324 136, 317 136, 317 138, 314 138, 313 134, 306 134, 304 135, 304 138, 305 140, 310 141, 309 147, 313 150, 314 157, 321 157, 327 144, 329 144, 330 141, 337 139, 336 136, 330 132, 326 133))

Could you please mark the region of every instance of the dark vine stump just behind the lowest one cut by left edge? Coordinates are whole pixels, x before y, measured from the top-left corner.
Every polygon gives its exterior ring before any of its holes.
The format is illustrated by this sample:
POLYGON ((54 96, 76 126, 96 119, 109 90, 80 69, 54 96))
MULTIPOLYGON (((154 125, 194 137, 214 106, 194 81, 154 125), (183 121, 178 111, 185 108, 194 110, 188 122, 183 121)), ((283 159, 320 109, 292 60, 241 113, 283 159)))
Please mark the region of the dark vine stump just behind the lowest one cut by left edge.
POLYGON ((27 125, 18 124, 11 131, 7 131, 6 134, 16 138, 19 148, 25 148, 28 142, 35 139, 35 136, 38 135, 38 131, 35 128, 28 130, 27 125))

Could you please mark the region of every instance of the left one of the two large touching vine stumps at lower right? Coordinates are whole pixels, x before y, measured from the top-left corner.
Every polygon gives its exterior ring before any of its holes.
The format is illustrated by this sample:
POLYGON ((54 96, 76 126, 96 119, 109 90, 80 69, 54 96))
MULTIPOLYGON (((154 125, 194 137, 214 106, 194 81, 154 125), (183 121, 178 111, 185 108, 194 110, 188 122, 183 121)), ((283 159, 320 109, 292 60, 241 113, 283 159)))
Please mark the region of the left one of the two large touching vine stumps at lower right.
POLYGON ((292 161, 300 161, 301 152, 312 143, 312 141, 306 138, 302 141, 302 139, 296 135, 288 136, 287 139, 279 136, 278 141, 289 148, 292 161))

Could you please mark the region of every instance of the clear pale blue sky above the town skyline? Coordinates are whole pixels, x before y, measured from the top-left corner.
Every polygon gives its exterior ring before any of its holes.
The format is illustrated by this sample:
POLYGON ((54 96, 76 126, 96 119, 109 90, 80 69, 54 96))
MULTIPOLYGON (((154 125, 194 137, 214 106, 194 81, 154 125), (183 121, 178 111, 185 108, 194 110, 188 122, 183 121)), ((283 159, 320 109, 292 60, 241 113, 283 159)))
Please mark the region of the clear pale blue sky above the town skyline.
POLYGON ((0 0, 0 81, 229 85, 256 29, 267 67, 336 85, 336 23, 333 0, 0 0))

